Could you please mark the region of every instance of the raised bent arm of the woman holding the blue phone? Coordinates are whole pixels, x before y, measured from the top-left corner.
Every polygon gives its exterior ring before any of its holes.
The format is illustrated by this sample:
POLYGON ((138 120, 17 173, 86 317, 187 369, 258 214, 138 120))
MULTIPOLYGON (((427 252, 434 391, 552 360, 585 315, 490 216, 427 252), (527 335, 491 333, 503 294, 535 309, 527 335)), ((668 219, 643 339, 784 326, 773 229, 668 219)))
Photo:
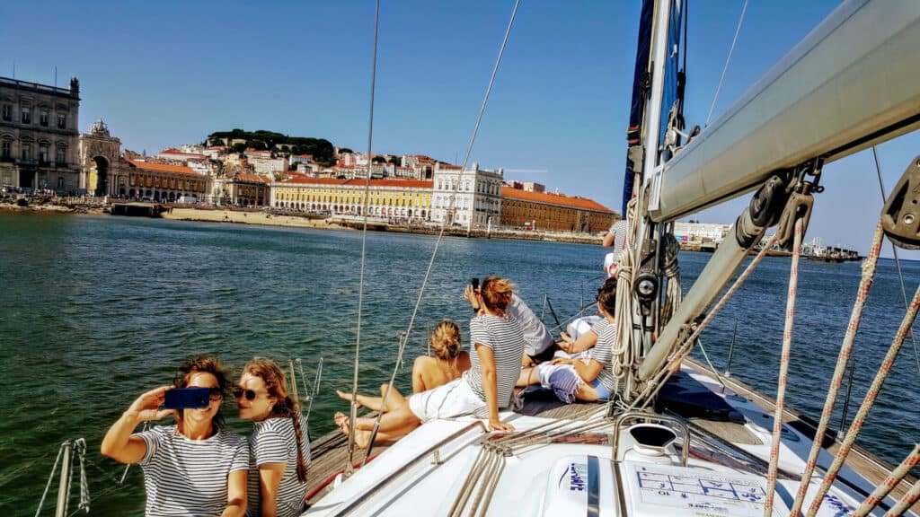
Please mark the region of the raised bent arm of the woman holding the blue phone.
POLYGON ((124 464, 138 463, 147 453, 147 443, 139 436, 132 436, 137 424, 147 420, 158 420, 174 414, 173 409, 159 409, 166 399, 166 392, 172 386, 160 386, 138 396, 127 411, 106 432, 99 452, 124 464))

